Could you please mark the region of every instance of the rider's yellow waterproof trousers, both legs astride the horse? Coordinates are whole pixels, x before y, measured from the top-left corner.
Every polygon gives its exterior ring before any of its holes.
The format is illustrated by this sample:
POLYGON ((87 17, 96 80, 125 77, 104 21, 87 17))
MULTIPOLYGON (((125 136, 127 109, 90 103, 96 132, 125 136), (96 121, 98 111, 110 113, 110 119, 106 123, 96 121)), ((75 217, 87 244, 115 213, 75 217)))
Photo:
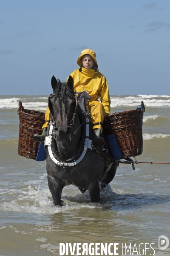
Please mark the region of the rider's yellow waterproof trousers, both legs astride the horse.
MULTIPOLYGON (((98 122, 103 122, 104 117, 105 117, 105 109, 103 105, 94 100, 94 101, 89 101, 89 110, 91 113, 90 120, 93 124, 96 124, 98 122)), ((45 121, 50 120, 50 110, 47 107, 46 112, 45 112, 45 121)), ((49 122, 45 122, 45 124, 42 126, 42 130, 45 127, 48 127, 49 122)), ((100 128, 102 130, 102 124, 96 124, 93 126, 93 129, 98 129, 100 128)))

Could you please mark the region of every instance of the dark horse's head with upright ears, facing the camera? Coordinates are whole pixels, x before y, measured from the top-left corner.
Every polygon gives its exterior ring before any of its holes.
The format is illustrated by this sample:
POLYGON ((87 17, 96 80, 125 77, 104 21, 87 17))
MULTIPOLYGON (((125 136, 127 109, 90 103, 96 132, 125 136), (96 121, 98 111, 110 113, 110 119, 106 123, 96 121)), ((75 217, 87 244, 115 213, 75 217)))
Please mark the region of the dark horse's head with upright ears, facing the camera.
POLYGON ((71 137, 72 125, 76 119, 76 99, 73 90, 73 78, 69 76, 67 83, 62 83, 54 76, 51 79, 53 93, 49 96, 48 107, 54 122, 54 132, 58 141, 66 141, 71 137))

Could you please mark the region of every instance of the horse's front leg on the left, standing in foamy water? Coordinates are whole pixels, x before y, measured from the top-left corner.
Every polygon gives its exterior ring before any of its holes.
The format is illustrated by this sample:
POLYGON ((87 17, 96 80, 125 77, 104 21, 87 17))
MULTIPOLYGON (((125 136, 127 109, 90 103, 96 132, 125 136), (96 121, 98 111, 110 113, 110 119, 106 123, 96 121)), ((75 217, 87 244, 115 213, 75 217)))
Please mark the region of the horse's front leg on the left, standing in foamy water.
POLYGON ((64 186, 58 183, 54 177, 48 175, 48 187, 53 197, 53 204, 62 206, 61 193, 64 186))

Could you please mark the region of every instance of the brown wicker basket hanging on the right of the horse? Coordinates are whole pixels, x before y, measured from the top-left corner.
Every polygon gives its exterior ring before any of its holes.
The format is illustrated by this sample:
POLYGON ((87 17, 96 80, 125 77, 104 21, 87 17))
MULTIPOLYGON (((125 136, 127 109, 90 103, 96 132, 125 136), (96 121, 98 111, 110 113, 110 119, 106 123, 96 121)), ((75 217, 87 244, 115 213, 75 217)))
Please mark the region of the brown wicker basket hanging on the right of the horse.
POLYGON ((109 114, 103 122, 105 135, 114 134, 122 158, 135 157, 143 151, 144 108, 109 114))

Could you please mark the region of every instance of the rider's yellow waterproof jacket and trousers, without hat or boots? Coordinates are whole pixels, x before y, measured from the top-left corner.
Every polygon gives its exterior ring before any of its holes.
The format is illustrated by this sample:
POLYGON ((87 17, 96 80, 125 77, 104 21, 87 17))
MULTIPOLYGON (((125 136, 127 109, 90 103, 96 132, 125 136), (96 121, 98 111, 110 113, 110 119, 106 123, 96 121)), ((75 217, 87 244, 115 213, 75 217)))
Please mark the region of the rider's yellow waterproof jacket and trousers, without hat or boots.
MULTIPOLYGON (((74 70, 71 76, 74 80, 74 91, 88 91, 88 94, 91 96, 91 100, 89 100, 91 122, 93 122, 93 124, 103 122, 105 114, 109 114, 111 109, 111 99, 105 76, 103 76, 99 70, 85 69, 84 67, 74 70), (100 98, 101 103, 98 101, 98 98, 100 98)), ((45 120, 50 120, 49 114, 50 111, 49 108, 47 108, 45 120)), ((48 122, 45 122, 42 129, 45 127, 48 127, 48 122)), ((94 125, 93 128, 102 129, 102 125, 94 125)))

